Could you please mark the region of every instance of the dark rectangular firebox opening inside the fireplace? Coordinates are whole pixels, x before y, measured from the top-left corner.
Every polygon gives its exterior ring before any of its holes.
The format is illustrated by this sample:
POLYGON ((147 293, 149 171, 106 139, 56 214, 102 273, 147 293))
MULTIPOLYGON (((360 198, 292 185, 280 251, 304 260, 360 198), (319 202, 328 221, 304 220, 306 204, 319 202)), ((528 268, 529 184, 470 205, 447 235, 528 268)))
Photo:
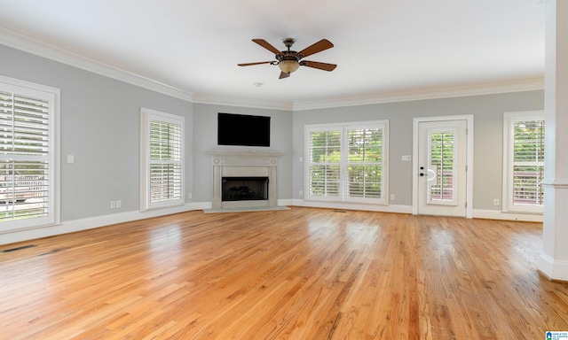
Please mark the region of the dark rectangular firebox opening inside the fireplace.
POLYGON ((223 177, 223 201, 268 199, 268 177, 223 177))

